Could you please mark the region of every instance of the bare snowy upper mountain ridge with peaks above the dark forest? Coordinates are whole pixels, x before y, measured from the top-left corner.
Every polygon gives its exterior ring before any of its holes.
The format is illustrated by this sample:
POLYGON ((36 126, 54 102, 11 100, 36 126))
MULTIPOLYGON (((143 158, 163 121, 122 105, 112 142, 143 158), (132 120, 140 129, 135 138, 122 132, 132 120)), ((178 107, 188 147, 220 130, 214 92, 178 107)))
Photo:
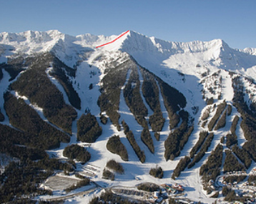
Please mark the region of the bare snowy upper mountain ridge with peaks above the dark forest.
POLYGON ((19 34, 1 33, 0 61, 6 62, 6 58, 15 53, 31 54, 52 51, 61 61, 74 67, 87 52, 100 53, 101 51, 120 50, 129 53, 142 66, 148 66, 148 63, 140 60, 140 58, 147 56, 149 62, 154 66, 162 64, 168 68, 177 68, 183 73, 195 76, 198 76, 195 73, 195 66, 199 64, 210 69, 212 67, 214 70, 222 68, 237 71, 248 77, 256 78, 254 71, 256 49, 232 49, 221 39, 190 42, 164 41, 155 37, 144 36, 135 31, 129 31, 128 34, 114 43, 95 49, 96 46, 112 41, 116 37, 114 35, 94 36, 92 34, 69 36, 57 30, 25 31, 19 34), (189 60, 189 58, 193 58, 193 60, 189 60), (172 63, 177 59, 185 61, 185 63, 183 65, 172 63), (192 62, 187 63, 186 61, 192 62))

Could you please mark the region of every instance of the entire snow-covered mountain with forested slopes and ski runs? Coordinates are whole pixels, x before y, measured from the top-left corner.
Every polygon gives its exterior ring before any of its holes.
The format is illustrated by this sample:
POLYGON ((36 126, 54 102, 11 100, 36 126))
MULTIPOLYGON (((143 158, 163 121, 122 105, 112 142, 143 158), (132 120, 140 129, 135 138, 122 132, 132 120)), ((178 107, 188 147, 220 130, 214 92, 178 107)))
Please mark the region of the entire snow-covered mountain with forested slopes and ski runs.
MULTIPOLYGON (((104 180, 108 187, 178 182, 187 198, 206 203, 212 195, 223 198, 210 180, 256 167, 256 49, 232 49, 221 39, 163 41, 134 31, 121 37, 1 33, 0 80, 1 140, 11 138, 2 151, 11 158, 19 156, 8 147, 18 144, 64 160, 64 148, 77 143, 89 146, 89 163, 99 168, 90 176, 98 183, 113 158, 125 173, 104 180), (128 161, 106 147, 114 135, 128 161), (45 143, 36 144, 39 138, 45 143), (207 168, 220 148, 220 164, 207 168), (237 168, 227 164, 232 156, 237 168), (164 181, 149 175, 155 165, 164 181)), ((86 173, 88 163, 75 161, 86 173)))

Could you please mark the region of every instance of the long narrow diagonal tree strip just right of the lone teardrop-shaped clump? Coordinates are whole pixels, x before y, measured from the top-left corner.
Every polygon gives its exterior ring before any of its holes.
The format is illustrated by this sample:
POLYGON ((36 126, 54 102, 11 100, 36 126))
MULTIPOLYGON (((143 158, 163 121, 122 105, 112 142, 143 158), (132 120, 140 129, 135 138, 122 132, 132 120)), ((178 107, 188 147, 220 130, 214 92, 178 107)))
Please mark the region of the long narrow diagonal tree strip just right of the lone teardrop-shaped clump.
POLYGON ((131 144, 134 152, 136 153, 136 155, 139 158, 139 160, 142 163, 144 163, 145 160, 146 160, 146 155, 145 155, 144 151, 142 151, 139 148, 137 142, 135 141, 134 134, 132 133, 132 131, 129 131, 129 126, 127 125, 127 123, 125 123, 125 121, 122 121, 122 126, 124 127, 124 133, 127 136, 127 140, 131 144))

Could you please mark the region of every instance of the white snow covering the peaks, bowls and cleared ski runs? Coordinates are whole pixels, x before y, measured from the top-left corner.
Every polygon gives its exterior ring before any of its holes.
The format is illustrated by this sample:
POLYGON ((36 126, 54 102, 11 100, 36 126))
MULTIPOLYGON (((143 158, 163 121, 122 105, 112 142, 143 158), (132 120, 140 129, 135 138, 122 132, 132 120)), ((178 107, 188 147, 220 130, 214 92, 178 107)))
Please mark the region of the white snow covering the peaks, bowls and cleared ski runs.
MULTIPOLYGON (((14 58, 19 54, 26 56, 35 53, 44 53, 46 51, 55 53, 56 56, 68 66, 77 68, 77 74, 75 78, 72 78, 72 83, 82 101, 81 111, 77 110, 78 118, 82 116, 85 109, 89 108, 91 113, 97 116, 99 123, 100 109, 97 106, 97 98, 100 95, 100 81, 104 77, 104 68, 108 65, 108 61, 117 61, 117 63, 124 62, 127 60, 127 53, 131 55, 140 66, 144 66, 149 71, 162 78, 163 81, 174 86, 174 88, 177 88, 184 94, 187 98, 187 106, 185 109, 189 111, 190 115, 195 116, 195 123, 199 123, 200 115, 205 111, 205 101, 202 99, 201 90, 211 84, 210 79, 208 79, 207 82, 207 78, 205 79, 205 83, 200 83, 204 78, 202 76, 203 73, 207 73, 207 76, 210 76, 212 73, 221 70, 222 87, 219 87, 217 91, 222 93, 222 99, 225 99, 227 103, 231 103, 234 94, 232 78, 228 74, 228 71, 235 71, 256 80, 256 49, 231 49, 220 39, 212 41, 192 41, 187 43, 162 41, 154 37, 138 34, 134 31, 129 31, 112 44, 96 49, 96 46, 113 41, 116 38, 117 36, 94 36, 92 34, 69 36, 67 34, 61 34, 56 30, 46 32, 26 31, 19 34, 1 33, 0 63, 6 62, 7 58, 14 58), (89 90, 91 83, 93 88, 89 90), (198 113, 192 111, 192 108, 195 106, 198 108, 198 113)), ((49 65, 49 69, 50 68, 49 65)), ((52 76, 49 76, 49 78, 64 94, 65 101, 69 103, 67 94, 64 92, 61 85, 52 76)), ((140 79, 142 79, 142 76, 140 76, 140 79)), ((0 81, 1 95, 4 94, 9 83, 11 83, 8 80, 9 75, 4 71, 4 78, 0 81)), ((249 82, 244 81, 244 84, 247 90, 255 90, 255 86, 249 82)), ((212 96, 211 93, 206 93, 206 95, 207 97, 212 96)), ((255 100, 254 95, 250 95, 247 98, 250 97, 255 100)), ((184 196, 187 198, 197 201, 201 200, 204 203, 212 203, 214 199, 208 198, 202 189, 199 175, 200 166, 207 160, 210 151, 217 146, 217 143, 220 143, 221 136, 230 131, 232 118, 238 114, 237 111, 233 110, 232 115, 227 118, 228 122, 225 128, 215 131, 215 138, 204 158, 197 163, 194 168, 189 170, 185 169, 177 180, 172 180, 172 172, 180 158, 189 154, 192 146, 195 145, 199 138, 200 131, 204 130, 204 128, 196 126, 197 128, 193 131, 192 136, 189 137, 189 141, 184 146, 181 155, 173 161, 166 161, 164 159, 164 141, 170 132, 169 118, 167 110, 164 107, 161 93, 159 93, 159 98, 165 123, 160 133, 160 141, 157 141, 154 136, 152 136, 156 153, 150 153, 147 146, 140 140, 142 127, 139 126, 134 116, 132 116, 131 111, 124 101, 123 94, 121 94, 119 104, 120 121, 124 119, 132 129, 139 147, 145 152, 146 162, 143 164, 139 162, 124 132, 117 131, 117 128, 108 121, 105 126, 102 125, 102 136, 100 136, 95 143, 92 143, 92 146, 87 148, 92 154, 89 164, 99 168, 93 180, 107 187, 115 185, 135 186, 142 182, 158 184, 180 183, 184 185, 186 193, 184 196), (119 135, 122 143, 126 146, 129 154, 128 162, 124 162, 119 155, 107 151, 107 139, 113 135, 119 135), (122 163, 125 173, 124 175, 116 173, 114 181, 103 180, 102 171, 107 161, 112 158, 122 163), (164 179, 162 180, 149 175, 150 168, 154 167, 156 164, 161 166, 164 170, 164 179)), ((4 100, 0 101, 1 112, 4 113, 5 116, 4 124, 9 125, 8 117, 4 111, 4 100)), ((41 111, 40 107, 33 108, 36 108, 37 111, 41 111)), ((149 110, 149 115, 151 112, 152 111, 149 110)), ((212 117, 213 114, 212 112, 210 117, 212 117)), ((245 142, 245 138, 240 128, 237 132, 239 132, 237 135, 239 135, 239 145, 241 145, 245 142)), ((77 143, 76 135, 77 121, 74 121, 72 126, 72 140, 69 144, 77 143)), ((60 148, 49 151, 49 154, 63 159, 64 156, 62 152, 67 145, 68 144, 61 143, 60 148)), ((79 145, 88 146, 87 143, 79 143, 79 145)), ((87 165, 88 164, 84 166, 78 165, 78 169, 84 170, 87 165)), ((75 197, 69 199, 67 203, 88 203, 94 195, 99 195, 99 191, 96 191, 96 194, 91 193, 84 198, 75 197)))

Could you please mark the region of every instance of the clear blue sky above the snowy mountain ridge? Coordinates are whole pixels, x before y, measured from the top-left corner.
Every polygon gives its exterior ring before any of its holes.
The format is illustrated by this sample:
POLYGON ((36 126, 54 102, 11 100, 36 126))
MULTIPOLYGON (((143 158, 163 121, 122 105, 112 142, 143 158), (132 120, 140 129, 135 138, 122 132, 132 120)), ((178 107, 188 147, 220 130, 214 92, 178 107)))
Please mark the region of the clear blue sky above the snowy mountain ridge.
POLYGON ((118 35, 128 29, 167 41, 223 39, 256 48, 256 0, 0 0, 0 32, 118 35))

